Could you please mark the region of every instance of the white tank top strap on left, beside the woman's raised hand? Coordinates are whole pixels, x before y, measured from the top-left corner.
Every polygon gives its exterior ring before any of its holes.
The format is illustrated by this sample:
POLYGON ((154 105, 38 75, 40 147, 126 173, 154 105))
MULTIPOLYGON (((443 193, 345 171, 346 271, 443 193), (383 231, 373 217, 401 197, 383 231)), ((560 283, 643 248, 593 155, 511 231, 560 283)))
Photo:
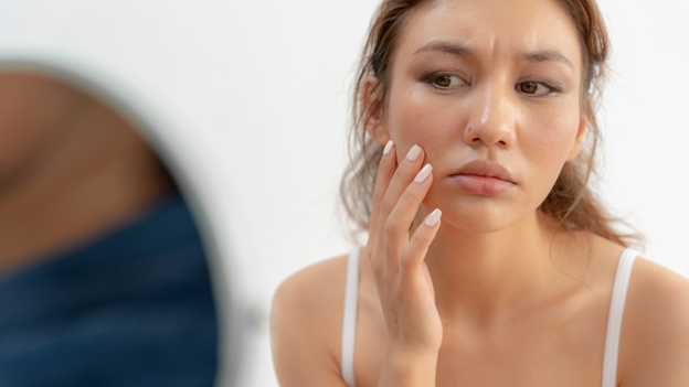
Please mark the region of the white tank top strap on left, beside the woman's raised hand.
POLYGON ((347 281, 344 283, 344 311, 342 313, 342 353, 340 370, 342 380, 349 387, 354 385, 354 340, 357 337, 357 307, 359 301, 359 248, 347 258, 347 281))

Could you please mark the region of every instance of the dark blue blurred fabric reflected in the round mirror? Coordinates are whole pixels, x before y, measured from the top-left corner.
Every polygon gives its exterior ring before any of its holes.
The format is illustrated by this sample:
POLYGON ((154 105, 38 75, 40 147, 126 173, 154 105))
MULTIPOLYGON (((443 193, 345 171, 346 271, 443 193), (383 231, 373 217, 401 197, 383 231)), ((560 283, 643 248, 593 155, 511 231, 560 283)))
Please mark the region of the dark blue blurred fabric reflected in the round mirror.
POLYGON ((0 279, 0 386, 211 386, 209 269, 179 194, 0 279))

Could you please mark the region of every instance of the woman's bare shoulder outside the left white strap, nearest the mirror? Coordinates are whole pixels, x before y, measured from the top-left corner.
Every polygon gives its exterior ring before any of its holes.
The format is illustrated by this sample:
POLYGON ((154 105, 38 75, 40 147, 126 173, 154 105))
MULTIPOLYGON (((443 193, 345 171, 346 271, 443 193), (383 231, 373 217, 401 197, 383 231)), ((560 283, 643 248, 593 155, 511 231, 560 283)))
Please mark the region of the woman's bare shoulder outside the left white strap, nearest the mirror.
MULTIPOLYGON (((293 275, 277 289, 271 344, 280 386, 338 386, 347 256, 293 275)), ((342 384, 343 386, 343 384, 342 384)))

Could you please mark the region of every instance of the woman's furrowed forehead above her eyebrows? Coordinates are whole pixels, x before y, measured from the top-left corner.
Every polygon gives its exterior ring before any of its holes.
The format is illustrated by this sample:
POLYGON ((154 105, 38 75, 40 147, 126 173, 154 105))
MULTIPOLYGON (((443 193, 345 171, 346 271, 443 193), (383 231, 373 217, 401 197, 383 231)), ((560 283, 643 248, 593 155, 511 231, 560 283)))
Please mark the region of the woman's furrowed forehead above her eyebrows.
POLYGON ((398 57, 433 42, 462 44, 479 60, 559 52, 575 68, 582 53, 574 21, 558 0, 436 0, 406 21, 398 57))

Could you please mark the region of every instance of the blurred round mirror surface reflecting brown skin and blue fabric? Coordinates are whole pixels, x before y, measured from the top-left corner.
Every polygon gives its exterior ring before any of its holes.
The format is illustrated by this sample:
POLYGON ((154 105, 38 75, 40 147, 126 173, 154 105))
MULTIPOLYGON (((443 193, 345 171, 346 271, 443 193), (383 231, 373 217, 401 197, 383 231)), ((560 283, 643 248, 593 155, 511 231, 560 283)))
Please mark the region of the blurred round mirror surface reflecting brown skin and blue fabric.
POLYGON ((206 254, 139 130, 0 69, 0 386, 211 386, 206 254))

